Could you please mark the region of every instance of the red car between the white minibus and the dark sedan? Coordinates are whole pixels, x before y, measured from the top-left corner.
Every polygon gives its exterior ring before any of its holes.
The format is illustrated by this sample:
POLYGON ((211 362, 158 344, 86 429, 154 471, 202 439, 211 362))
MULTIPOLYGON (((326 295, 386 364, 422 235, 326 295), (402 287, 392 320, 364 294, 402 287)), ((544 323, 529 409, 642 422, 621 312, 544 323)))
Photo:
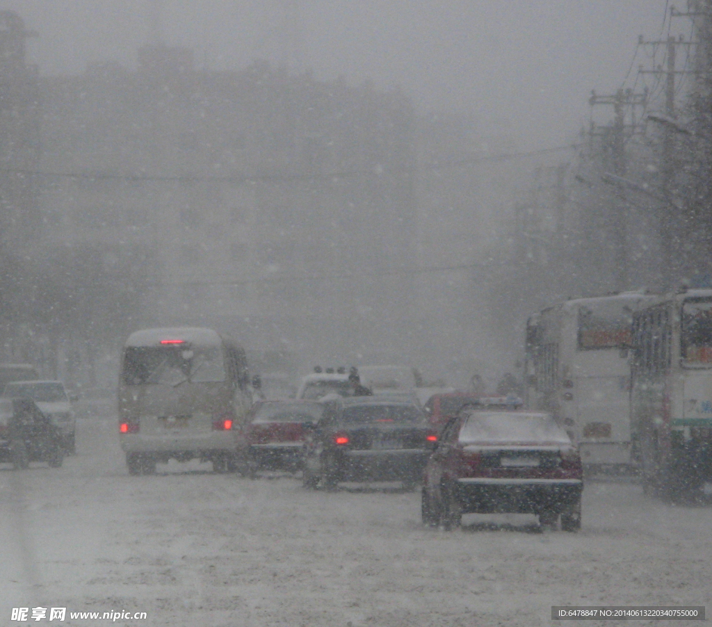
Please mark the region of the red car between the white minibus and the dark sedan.
POLYGON ((247 440, 255 470, 302 469, 305 428, 324 411, 318 401, 260 401, 248 417, 247 440))

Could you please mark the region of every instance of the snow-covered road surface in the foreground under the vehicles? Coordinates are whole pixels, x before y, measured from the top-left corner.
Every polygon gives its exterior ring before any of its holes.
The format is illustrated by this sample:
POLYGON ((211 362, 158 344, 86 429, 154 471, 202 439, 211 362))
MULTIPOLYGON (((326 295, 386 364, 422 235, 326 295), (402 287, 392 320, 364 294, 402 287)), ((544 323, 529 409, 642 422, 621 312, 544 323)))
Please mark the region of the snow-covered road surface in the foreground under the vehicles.
POLYGON ((0 466, 0 624, 20 624, 18 606, 145 611, 114 624, 171 627, 572 624, 552 623, 552 605, 712 611, 710 505, 591 481, 579 534, 541 533, 533 517, 465 517, 447 533, 422 527, 418 492, 308 492, 209 464, 130 477, 115 428, 80 421, 79 454, 59 469, 0 466))

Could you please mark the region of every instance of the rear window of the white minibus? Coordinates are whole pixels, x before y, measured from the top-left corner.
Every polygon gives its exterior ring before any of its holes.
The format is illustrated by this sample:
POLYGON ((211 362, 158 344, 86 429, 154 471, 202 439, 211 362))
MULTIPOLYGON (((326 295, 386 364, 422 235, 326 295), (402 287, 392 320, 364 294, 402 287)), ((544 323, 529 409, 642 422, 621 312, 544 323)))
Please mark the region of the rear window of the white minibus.
POLYGON ((219 347, 129 347, 124 354, 126 385, 179 385, 183 381, 210 383, 225 380, 219 347))

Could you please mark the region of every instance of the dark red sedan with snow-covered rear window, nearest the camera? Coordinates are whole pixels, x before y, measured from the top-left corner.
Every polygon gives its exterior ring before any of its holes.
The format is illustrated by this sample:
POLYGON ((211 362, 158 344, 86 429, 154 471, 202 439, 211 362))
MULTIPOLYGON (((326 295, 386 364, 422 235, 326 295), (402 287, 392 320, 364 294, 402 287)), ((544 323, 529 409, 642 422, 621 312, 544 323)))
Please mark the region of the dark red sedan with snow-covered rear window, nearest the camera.
POLYGON ((463 514, 535 514, 542 527, 581 527, 581 457, 546 413, 465 410, 443 429, 424 473, 426 525, 463 514))

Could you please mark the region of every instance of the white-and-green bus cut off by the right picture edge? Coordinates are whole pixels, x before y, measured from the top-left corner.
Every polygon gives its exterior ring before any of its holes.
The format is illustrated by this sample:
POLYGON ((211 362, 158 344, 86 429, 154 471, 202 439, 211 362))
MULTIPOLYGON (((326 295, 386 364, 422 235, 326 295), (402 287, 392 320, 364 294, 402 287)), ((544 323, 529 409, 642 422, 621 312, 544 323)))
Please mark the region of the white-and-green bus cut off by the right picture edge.
POLYGON ((657 298, 634 316, 631 421, 646 491, 712 481, 712 290, 657 298))

